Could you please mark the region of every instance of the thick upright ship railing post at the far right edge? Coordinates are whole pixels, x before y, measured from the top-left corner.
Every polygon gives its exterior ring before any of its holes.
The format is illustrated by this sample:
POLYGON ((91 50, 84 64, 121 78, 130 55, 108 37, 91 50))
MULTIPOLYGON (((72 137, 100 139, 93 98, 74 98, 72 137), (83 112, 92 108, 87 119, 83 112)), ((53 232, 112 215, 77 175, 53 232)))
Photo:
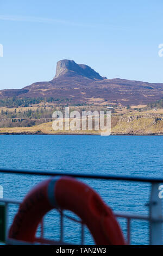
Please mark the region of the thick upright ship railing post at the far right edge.
POLYGON ((158 220, 162 216, 161 200, 159 198, 159 183, 152 183, 151 200, 149 202, 150 245, 161 245, 162 243, 162 222, 158 220))

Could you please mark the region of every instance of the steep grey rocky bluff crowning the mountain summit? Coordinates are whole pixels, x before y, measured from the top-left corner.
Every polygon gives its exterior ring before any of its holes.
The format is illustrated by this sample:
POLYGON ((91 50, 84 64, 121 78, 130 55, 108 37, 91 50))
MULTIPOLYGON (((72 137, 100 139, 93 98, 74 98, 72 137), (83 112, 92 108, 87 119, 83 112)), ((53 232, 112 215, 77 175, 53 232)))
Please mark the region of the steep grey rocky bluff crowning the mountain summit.
POLYGON ((58 78, 63 75, 72 75, 72 76, 83 76, 90 79, 103 80, 103 77, 100 76, 95 70, 91 69, 90 66, 84 64, 77 64, 74 60, 63 59, 57 62, 55 78, 58 78))

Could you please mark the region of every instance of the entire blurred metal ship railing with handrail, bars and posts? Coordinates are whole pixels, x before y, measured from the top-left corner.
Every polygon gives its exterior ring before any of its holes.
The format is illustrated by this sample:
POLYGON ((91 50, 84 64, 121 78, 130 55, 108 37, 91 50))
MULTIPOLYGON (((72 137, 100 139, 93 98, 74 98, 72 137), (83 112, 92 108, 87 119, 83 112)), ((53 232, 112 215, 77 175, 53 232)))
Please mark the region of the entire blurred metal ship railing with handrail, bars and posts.
MULTIPOLYGON (((73 173, 58 173, 58 172, 35 172, 35 171, 24 171, 24 170, 9 170, 9 169, 0 169, 0 173, 10 173, 10 174, 26 174, 26 175, 43 175, 43 176, 72 176, 75 178, 86 178, 86 179, 102 179, 102 180, 116 180, 116 181, 130 181, 130 182, 148 182, 151 184, 151 197, 149 203, 146 205, 149 207, 148 215, 136 215, 136 214, 127 214, 121 212, 114 212, 116 217, 125 218, 127 220, 127 244, 130 245, 130 233, 131 233, 131 220, 142 220, 149 222, 149 244, 150 245, 161 245, 162 244, 162 208, 161 208, 161 199, 158 196, 159 185, 163 184, 163 179, 159 178, 140 178, 140 177, 130 177, 130 176, 115 176, 115 175, 92 175, 92 174, 73 174, 73 173)), ((7 224, 6 224, 6 243, 8 244, 24 244, 22 241, 16 241, 13 239, 8 239, 8 205, 9 204, 20 204, 19 200, 10 200, 10 199, 0 199, 0 202, 3 202, 6 205, 7 209, 7 224)), ((78 222, 81 224, 81 242, 84 244, 84 223, 82 220, 77 220, 76 218, 67 216, 64 214, 63 210, 57 209, 60 213, 60 240, 52 241, 44 238, 44 224, 43 220, 41 224, 41 235, 36 237, 35 242, 37 244, 47 243, 51 245, 70 245, 70 243, 65 243, 63 241, 64 227, 63 227, 63 218, 66 217, 72 221, 78 222)), ((27 243, 29 244, 29 243, 27 243)))

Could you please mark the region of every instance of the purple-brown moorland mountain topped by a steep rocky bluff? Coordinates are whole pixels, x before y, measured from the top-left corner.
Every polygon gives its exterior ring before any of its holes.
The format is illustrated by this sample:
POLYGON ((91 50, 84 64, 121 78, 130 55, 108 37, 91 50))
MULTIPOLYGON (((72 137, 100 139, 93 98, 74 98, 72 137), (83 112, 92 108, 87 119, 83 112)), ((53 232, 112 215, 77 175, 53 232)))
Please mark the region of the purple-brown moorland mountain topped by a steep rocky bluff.
POLYGON ((90 66, 73 60, 60 60, 49 82, 36 82, 22 89, 0 90, 0 99, 8 97, 53 97, 58 103, 123 106, 147 104, 163 97, 163 83, 107 79, 90 66))

